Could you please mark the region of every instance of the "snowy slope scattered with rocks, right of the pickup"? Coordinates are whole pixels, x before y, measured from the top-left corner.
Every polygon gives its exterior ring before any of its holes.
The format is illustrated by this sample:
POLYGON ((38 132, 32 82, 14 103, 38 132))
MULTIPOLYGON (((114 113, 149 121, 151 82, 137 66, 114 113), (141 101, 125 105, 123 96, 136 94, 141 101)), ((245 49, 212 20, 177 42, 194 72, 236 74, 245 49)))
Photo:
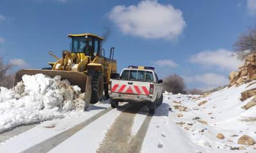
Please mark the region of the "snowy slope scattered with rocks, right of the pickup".
POLYGON ((208 96, 164 94, 179 126, 195 152, 256 152, 255 145, 240 145, 243 135, 256 140, 256 106, 241 108, 252 98, 241 101, 241 92, 256 88, 255 82, 226 87, 208 96), (223 138, 217 138, 217 135, 223 138))

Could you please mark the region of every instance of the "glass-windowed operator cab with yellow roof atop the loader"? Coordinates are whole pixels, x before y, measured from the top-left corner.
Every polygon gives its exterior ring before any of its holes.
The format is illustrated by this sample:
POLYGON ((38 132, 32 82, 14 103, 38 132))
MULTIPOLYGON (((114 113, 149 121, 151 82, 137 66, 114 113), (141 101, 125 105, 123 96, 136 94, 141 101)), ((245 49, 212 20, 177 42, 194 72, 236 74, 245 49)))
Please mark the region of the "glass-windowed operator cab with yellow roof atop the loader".
POLYGON ((100 50, 103 38, 95 34, 68 34, 71 38, 70 50, 74 54, 85 54, 86 56, 101 56, 100 50))

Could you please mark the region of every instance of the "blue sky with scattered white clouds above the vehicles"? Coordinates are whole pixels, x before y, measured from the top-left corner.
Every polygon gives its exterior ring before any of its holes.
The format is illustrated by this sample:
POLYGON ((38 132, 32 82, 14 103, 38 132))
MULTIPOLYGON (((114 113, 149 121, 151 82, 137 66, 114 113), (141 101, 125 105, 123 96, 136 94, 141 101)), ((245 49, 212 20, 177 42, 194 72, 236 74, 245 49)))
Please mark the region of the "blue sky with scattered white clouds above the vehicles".
POLYGON ((228 82, 239 61, 232 45, 256 25, 256 0, 86 1, 1 0, 0 54, 19 68, 43 68, 69 48, 70 33, 111 33, 118 71, 156 66, 161 78, 177 73, 188 88, 228 82))

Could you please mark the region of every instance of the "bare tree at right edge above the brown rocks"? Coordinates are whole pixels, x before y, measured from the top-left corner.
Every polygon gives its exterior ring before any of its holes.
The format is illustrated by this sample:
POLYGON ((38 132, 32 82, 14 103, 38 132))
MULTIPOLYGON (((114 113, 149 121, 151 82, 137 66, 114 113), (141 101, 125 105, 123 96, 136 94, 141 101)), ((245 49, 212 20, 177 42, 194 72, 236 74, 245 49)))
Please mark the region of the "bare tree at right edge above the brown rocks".
POLYGON ((241 34, 234 47, 242 59, 248 54, 256 53, 256 27, 251 27, 241 34))

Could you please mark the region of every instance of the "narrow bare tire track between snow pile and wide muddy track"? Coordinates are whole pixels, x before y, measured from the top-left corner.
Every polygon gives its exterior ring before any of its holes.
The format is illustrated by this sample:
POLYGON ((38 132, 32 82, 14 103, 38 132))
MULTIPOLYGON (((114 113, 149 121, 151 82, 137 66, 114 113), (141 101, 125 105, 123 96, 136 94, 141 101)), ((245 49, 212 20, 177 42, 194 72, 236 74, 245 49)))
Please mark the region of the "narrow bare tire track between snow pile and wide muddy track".
MULTIPOLYGON (((129 106, 129 103, 120 106, 120 109, 125 109, 129 106)), ((84 127, 88 126, 88 124, 92 123, 94 120, 99 119, 102 115, 108 113, 109 111, 113 110, 113 108, 108 107, 106 110, 102 110, 101 112, 93 115, 93 117, 90 117, 90 119, 85 120, 84 122, 81 122, 77 126, 74 126, 73 128, 68 129, 67 131, 63 131, 62 133, 52 136, 52 138, 49 138, 45 140, 44 142, 38 143, 24 151, 22 153, 34 153, 34 152, 49 152, 49 150, 53 149, 57 145, 60 145, 60 143, 67 140, 70 136, 76 134, 78 131, 83 129, 84 127)))

